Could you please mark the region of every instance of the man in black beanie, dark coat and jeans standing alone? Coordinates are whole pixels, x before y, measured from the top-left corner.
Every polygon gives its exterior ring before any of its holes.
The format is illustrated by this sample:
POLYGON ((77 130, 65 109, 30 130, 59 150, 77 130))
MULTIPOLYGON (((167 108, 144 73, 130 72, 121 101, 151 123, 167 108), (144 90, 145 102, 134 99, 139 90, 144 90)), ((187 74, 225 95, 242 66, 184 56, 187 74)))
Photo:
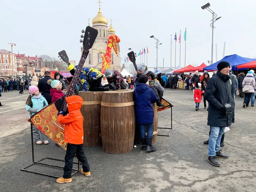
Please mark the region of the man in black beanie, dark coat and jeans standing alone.
POLYGON ((209 137, 208 162, 213 166, 220 166, 216 157, 228 158, 227 155, 219 151, 221 136, 224 134, 225 127, 229 127, 235 114, 235 102, 231 96, 230 88, 230 64, 221 61, 215 76, 209 79, 204 96, 209 102, 208 122, 211 134, 209 137), (224 104, 231 105, 231 113, 226 114, 224 104))

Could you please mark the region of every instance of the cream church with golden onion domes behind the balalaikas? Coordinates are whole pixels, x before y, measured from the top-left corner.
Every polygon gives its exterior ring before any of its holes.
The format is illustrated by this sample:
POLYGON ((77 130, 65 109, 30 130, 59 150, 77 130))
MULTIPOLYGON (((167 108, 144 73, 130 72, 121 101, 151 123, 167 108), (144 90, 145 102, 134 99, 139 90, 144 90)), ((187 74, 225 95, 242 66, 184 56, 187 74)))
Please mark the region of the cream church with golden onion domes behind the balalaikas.
MULTIPOLYGON (((101 1, 99 0, 99 12, 98 14, 93 18, 92 24, 93 28, 98 30, 98 36, 93 44, 93 47, 89 49, 89 55, 84 63, 84 67, 93 67, 97 70, 101 70, 102 68, 102 55, 105 54, 106 48, 107 48, 107 42, 108 37, 115 33, 115 29, 112 26, 112 19, 110 20, 111 25, 108 28, 108 20, 106 17, 102 15, 101 12, 101 1)), ((90 26, 90 19, 88 19, 88 25, 90 26)), ((81 52, 82 52, 81 47, 81 52)), ((114 49, 112 48, 111 52, 111 70, 121 70, 120 66, 120 47, 119 44, 117 44, 117 52, 118 55, 114 52, 114 49)))

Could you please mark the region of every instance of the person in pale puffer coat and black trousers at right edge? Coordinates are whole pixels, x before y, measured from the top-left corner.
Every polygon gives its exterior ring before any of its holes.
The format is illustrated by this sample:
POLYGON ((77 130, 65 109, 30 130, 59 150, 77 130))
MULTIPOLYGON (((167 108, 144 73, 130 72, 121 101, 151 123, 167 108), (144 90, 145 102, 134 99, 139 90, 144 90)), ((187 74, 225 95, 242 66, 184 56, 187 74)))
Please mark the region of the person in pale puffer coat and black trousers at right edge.
POLYGON ((255 79, 253 73, 248 71, 243 81, 243 93, 244 93, 244 104, 243 108, 249 108, 250 98, 252 94, 255 94, 255 79))

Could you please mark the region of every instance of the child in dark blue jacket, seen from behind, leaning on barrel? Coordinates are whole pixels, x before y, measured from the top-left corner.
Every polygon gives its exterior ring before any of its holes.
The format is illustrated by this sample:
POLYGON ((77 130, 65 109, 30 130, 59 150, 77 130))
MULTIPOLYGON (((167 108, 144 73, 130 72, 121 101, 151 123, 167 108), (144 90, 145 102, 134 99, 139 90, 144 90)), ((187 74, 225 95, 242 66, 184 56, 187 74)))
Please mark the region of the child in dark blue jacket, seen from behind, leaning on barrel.
POLYGON ((154 110, 152 103, 158 101, 154 91, 148 86, 148 76, 140 76, 134 90, 136 122, 140 126, 143 151, 156 151, 152 146, 154 110), (147 125, 147 136, 145 135, 147 125))

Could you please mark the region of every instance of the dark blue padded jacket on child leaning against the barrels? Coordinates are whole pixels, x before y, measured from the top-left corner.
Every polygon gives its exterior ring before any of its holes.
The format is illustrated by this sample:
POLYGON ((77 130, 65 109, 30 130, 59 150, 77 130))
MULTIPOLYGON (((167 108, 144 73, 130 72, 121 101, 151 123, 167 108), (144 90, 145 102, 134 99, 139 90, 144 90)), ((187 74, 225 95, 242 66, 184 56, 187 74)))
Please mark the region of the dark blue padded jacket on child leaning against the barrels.
POLYGON ((136 122, 151 124, 154 122, 152 103, 158 101, 154 91, 145 83, 136 84, 134 90, 136 122))

